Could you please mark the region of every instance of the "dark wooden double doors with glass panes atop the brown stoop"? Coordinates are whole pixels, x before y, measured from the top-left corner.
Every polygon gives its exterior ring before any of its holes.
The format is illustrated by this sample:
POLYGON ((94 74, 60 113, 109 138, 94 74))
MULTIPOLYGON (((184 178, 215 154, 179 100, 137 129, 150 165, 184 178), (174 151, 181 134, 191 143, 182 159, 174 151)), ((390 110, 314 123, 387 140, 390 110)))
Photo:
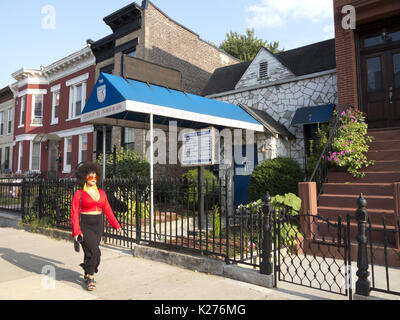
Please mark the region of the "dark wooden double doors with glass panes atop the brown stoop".
POLYGON ((368 126, 400 126, 400 31, 362 37, 361 47, 361 109, 368 126))

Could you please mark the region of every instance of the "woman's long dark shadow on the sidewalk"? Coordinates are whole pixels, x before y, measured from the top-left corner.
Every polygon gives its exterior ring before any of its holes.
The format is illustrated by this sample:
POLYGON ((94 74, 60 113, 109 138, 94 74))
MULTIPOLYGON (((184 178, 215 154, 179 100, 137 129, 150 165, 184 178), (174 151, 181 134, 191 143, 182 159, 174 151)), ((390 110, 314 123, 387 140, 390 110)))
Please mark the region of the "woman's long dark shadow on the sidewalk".
POLYGON ((28 272, 36 272, 43 276, 55 276, 56 281, 68 281, 84 287, 83 274, 59 267, 63 262, 37 256, 26 252, 17 252, 9 248, 0 248, 0 258, 28 272))

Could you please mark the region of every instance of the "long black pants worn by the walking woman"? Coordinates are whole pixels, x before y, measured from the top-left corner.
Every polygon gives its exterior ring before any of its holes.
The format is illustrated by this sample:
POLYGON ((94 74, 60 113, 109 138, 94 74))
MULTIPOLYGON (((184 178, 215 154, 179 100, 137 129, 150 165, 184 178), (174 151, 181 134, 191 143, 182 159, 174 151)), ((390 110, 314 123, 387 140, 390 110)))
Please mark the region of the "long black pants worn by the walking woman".
POLYGON ((81 230, 83 233, 82 248, 85 254, 80 265, 85 274, 94 275, 100 265, 101 251, 99 248, 103 236, 103 215, 81 214, 81 230))

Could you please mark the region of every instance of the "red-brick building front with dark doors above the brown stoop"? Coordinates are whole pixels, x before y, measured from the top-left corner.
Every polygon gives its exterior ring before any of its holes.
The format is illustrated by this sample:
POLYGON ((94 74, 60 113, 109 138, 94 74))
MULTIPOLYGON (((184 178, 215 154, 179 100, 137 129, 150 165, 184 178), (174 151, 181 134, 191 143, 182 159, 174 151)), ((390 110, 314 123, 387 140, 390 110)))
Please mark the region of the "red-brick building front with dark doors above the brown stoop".
POLYGON ((400 103, 395 90, 400 85, 393 79, 400 72, 400 2, 333 2, 339 105, 359 106, 367 113, 370 127, 398 126, 400 113, 393 106, 400 103), (352 13, 355 29, 349 20, 352 13))

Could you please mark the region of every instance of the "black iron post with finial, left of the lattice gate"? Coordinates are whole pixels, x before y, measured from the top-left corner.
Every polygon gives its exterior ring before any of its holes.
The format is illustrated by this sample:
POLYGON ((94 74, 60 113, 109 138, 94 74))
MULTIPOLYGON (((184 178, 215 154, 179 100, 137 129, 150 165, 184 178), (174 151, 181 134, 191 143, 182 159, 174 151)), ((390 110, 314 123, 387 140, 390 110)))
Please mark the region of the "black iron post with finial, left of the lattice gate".
POLYGON ((271 197, 269 193, 264 198, 262 224, 262 251, 260 273, 272 274, 272 231, 271 231, 271 197))

